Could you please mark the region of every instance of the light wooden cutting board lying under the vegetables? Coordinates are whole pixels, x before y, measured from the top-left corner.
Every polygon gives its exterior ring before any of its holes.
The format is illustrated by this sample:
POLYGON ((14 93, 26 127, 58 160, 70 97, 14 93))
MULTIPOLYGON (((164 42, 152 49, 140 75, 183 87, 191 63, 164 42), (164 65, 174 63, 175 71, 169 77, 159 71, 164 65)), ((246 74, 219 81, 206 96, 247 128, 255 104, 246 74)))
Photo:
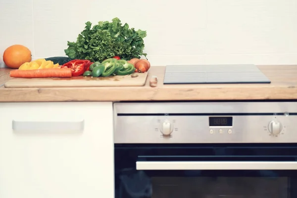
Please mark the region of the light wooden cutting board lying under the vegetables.
POLYGON ((144 86, 148 72, 137 73, 138 77, 110 76, 110 77, 72 77, 72 78, 13 78, 4 84, 6 88, 31 87, 117 87, 144 86))

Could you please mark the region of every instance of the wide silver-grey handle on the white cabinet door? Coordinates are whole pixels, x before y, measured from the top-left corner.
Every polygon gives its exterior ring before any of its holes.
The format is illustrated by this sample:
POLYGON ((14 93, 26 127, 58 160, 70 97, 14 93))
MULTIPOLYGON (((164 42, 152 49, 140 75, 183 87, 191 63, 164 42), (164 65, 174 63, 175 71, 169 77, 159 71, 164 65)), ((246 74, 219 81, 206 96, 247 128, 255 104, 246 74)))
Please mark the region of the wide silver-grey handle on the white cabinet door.
POLYGON ((82 121, 15 121, 12 120, 12 130, 20 132, 79 132, 84 130, 85 120, 82 121))

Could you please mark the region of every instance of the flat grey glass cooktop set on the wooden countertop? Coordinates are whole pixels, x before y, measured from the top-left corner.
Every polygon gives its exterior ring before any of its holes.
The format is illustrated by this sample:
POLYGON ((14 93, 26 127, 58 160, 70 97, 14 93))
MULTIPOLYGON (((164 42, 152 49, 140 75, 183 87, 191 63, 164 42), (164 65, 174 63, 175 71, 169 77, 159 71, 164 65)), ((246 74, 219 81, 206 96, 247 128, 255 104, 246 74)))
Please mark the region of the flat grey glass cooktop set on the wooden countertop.
POLYGON ((271 83, 253 64, 166 65, 164 84, 271 83))

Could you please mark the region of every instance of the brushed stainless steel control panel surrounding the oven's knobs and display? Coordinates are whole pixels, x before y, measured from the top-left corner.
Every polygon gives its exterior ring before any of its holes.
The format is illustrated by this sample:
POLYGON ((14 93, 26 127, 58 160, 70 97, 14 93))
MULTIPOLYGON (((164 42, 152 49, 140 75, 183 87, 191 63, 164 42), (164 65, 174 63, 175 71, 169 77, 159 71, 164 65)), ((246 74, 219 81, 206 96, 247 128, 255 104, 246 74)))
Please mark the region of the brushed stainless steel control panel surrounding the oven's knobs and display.
POLYGON ((290 113, 297 113, 297 102, 115 102, 114 143, 297 143, 297 115, 290 113), (117 116, 117 113, 160 115, 117 116), (168 113, 206 115, 168 116, 168 113), (233 115, 233 126, 210 127, 208 118, 212 113, 271 115, 233 115), (162 136, 160 130, 165 120, 173 125, 170 137, 162 136), (281 133, 269 132, 271 121, 281 123, 281 133))

